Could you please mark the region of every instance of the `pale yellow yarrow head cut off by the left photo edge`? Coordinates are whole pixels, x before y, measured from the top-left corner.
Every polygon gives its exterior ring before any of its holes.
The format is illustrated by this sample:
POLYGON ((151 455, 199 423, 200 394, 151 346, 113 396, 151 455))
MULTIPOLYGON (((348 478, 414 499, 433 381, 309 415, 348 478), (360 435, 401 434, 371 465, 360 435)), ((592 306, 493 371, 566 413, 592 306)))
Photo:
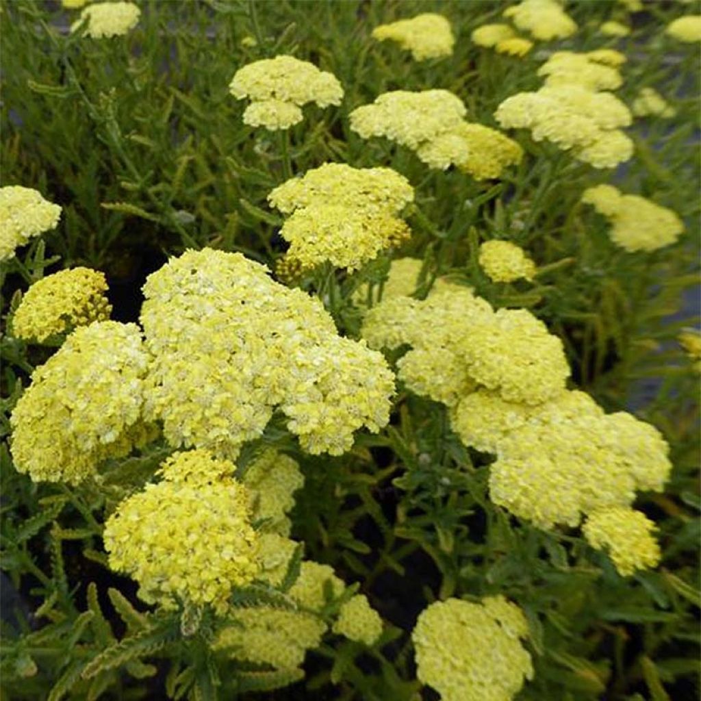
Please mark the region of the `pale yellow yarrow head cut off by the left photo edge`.
POLYGON ((0 188, 0 261, 15 257, 15 250, 30 238, 55 229, 61 207, 47 202, 36 190, 20 185, 0 188))

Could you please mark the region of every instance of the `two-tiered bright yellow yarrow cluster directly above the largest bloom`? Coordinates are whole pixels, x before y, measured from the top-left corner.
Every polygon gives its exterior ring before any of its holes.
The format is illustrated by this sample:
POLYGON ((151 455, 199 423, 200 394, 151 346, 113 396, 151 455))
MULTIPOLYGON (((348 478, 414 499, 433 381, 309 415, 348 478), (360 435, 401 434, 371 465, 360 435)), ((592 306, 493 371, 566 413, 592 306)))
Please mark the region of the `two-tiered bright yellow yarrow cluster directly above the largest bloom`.
POLYGON ((290 215, 280 236, 290 242, 285 264, 299 271, 330 261, 353 271, 411 236, 398 216, 414 200, 409 181, 390 168, 325 163, 288 180, 268 202, 290 215))

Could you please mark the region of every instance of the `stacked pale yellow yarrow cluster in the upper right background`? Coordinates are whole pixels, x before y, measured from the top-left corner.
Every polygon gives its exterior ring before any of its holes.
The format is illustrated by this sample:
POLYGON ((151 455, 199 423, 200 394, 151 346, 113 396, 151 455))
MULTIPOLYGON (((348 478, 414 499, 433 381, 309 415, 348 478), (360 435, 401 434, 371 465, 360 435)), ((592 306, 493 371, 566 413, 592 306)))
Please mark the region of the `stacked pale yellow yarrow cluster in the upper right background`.
POLYGON ((632 115, 615 95, 600 91, 620 86, 613 64, 621 56, 606 49, 554 53, 539 71, 547 76, 545 86, 508 97, 496 120, 504 128, 529 129, 534 141, 557 144, 594 168, 614 168, 633 155, 633 142, 620 130, 632 115))

